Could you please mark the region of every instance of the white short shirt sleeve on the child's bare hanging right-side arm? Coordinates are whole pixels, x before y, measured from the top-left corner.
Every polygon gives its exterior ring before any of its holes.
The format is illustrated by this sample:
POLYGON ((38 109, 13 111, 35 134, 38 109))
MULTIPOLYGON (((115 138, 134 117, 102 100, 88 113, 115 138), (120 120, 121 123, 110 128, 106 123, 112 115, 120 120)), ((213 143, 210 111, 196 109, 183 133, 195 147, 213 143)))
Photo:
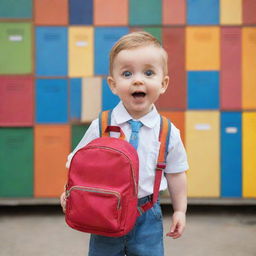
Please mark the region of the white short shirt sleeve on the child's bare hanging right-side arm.
POLYGON ((187 154, 180 137, 180 131, 173 124, 171 126, 166 164, 166 173, 184 172, 189 169, 187 154))

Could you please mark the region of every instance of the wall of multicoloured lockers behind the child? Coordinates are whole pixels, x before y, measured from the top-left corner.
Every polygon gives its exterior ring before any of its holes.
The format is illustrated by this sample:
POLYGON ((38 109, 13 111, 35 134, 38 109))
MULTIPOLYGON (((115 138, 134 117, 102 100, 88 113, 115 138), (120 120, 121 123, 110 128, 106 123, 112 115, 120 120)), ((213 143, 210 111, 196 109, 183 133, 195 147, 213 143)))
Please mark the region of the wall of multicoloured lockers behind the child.
POLYGON ((69 152, 118 98, 129 31, 169 53, 158 109, 181 130, 189 197, 256 198, 256 0, 0 0, 0 197, 55 198, 69 152))

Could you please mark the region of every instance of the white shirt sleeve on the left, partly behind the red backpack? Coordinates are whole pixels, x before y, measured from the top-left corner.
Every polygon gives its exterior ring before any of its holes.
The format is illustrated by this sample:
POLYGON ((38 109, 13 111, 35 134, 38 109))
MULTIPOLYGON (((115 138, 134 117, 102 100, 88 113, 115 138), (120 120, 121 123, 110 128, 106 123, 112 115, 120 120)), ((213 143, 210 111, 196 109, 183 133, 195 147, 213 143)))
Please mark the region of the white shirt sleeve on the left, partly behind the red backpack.
POLYGON ((90 143, 92 140, 99 137, 99 119, 95 119, 87 131, 85 132, 83 138, 80 140, 76 148, 68 155, 66 167, 69 168, 70 162, 74 154, 82 147, 86 146, 88 143, 90 143))

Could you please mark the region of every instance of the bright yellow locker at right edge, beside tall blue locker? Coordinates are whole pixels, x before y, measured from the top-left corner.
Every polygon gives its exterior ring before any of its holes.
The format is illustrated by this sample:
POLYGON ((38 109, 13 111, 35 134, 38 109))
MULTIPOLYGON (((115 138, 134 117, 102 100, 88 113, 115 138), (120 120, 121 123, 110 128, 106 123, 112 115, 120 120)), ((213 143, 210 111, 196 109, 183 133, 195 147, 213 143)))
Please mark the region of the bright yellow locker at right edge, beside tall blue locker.
POLYGON ((256 197, 256 112, 243 113, 243 197, 256 197))

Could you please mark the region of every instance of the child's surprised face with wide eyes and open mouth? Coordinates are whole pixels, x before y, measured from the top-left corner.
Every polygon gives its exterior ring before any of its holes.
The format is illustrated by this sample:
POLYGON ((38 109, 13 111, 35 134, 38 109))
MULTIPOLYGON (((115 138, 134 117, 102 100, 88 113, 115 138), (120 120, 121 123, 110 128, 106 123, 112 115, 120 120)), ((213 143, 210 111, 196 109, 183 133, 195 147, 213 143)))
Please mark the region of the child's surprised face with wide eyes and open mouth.
POLYGON ((164 75, 163 52, 151 45, 119 52, 112 73, 108 77, 110 88, 135 119, 151 111, 169 83, 164 75))

